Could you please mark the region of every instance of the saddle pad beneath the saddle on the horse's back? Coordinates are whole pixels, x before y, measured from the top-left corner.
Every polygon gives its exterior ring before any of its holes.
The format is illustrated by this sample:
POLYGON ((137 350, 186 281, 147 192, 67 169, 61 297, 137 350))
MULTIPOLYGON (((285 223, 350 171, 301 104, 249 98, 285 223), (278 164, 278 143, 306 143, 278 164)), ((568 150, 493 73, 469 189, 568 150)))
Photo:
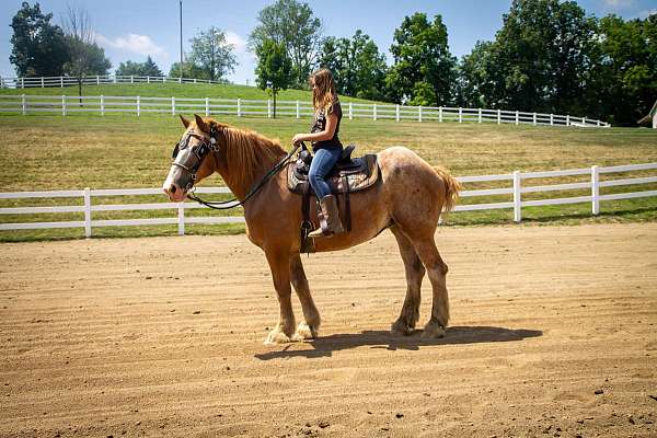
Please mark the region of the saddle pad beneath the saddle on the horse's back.
MULTIPOLYGON (((288 189, 298 195, 309 189, 308 175, 297 171, 297 163, 288 165, 288 189)), ((376 154, 356 158, 345 169, 332 171, 326 183, 333 194, 353 193, 371 187, 379 180, 379 164, 376 154)))

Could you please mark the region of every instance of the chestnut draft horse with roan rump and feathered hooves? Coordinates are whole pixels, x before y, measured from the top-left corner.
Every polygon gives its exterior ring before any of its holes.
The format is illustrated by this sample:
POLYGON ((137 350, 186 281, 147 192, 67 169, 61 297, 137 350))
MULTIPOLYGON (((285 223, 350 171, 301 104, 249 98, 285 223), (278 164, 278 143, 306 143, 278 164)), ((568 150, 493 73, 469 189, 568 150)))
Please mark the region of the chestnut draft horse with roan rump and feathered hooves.
MULTIPOLYGON (((172 201, 180 203, 192 186, 218 172, 239 200, 244 198, 286 152, 280 143, 260 134, 195 116, 174 150, 175 161, 163 184, 172 201)), ((406 298, 393 334, 411 334, 419 319, 420 285, 428 273, 434 292, 431 316, 423 337, 445 335, 449 320, 449 299, 445 277, 447 265, 434 242, 441 210, 450 210, 459 193, 459 183, 448 172, 427 164, 411 150, 393 147, 378 154, 380 181, 350 195, 351 231, 331 238, 316 238, 315 251, 344 250, 390 229, 400 246, 406 269, 406 298)), ((300 256, 302 222, 301 196, 287 188, 287 172, 276 173, 243 204, 249 240, 263 249, 278 295, 280 315, 265 344, 315 338, 320 313, 310 293, 300 256), (293 286, 304 322, 296 326, 291 304, 293 286)), ((311 210, 314 210, 311 208, 311 210)), ((313 223, 319 223, 311 211, 313 223)))

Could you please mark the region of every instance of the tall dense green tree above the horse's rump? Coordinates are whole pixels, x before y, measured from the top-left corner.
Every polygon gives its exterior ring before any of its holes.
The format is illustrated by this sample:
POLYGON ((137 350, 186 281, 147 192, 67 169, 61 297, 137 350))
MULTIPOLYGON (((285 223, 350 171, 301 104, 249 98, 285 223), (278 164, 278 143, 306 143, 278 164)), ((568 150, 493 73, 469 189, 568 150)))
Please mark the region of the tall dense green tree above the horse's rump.
POLYGON ((392 97, 414 105, 443 105, 452 97, 456 58, 449 51, 447 27, 436 15, 405 16, 390 47, 394 64, 385 78, 392 97), (430 90, 430 92, 429 92, 430 90))

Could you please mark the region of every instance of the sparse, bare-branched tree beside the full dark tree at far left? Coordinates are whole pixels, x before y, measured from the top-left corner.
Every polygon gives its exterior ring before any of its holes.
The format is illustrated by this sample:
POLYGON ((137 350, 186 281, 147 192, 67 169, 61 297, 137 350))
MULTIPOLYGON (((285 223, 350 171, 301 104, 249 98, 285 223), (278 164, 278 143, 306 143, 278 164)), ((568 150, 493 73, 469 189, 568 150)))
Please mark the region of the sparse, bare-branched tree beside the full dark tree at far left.
POLYGON ((78 78, 78 92, 82 96, 82 78, 89 74, 107 74, 112 62, 105 58, 105 50, 95 44, 89 14, 84 9, 69 5, 64 28, 69 53, 64 70, 78 78))

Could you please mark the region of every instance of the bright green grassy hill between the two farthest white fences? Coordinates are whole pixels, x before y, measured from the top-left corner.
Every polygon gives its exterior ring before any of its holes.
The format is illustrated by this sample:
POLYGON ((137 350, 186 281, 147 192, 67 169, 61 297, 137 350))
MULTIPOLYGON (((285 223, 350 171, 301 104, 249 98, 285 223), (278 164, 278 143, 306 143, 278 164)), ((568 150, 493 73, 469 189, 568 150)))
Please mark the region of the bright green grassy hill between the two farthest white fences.
MULTIPOLYGON (((37 95, 78 95, 78 87, 64 88, 26 88, 2 89, 0 94, 37 94, 37 95)), ((116 83, 82 87, 83 95, 115 95, 115 96, 145 96, 145 97, 214 97, 214 99, 252 99, 266 100, 269 95, 256 87, 235 84, 206 84, 206 83, 116 83)), ((281 101, 312 100, 310 91, 285 90, 278 94, 281 101)), ((341 96, 343 102, 371 102, 362 99, 341 96)))

